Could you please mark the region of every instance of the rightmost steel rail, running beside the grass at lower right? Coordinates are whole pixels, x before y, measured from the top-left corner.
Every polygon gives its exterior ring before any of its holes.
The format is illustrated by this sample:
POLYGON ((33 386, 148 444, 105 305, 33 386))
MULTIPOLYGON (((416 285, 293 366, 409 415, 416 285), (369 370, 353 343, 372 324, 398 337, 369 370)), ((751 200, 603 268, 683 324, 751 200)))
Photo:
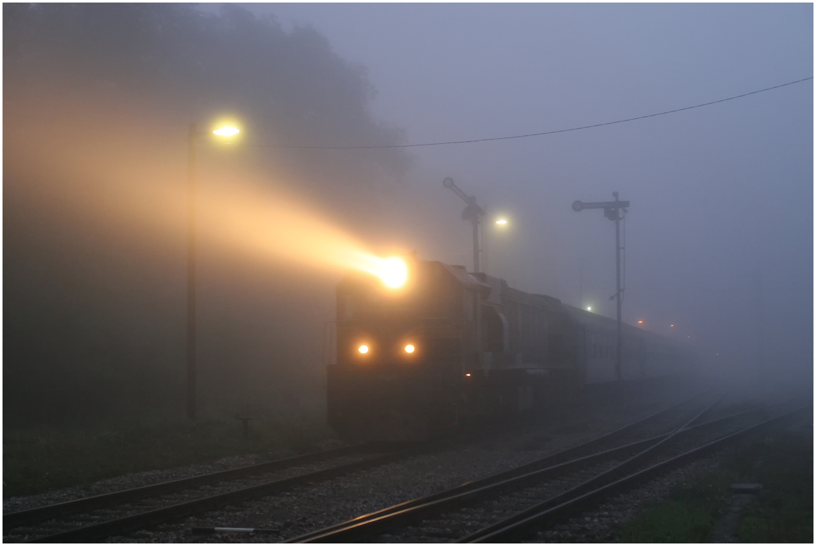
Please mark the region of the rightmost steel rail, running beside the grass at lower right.
POLYGON ((797 410, 788 411, 783 415, 778 415, 771 419, 765 419, 765 421, 762 421, 759 424, 754 424, 750 427, 743 428, 735 433, 731 433, 725 437, 708 442, 703 446, 685 451, 685 453, 682 453, 681 455, 676 455, 661 463, 653 464, 648 468, 632 473, 626 477, 622 477, 614 482, 597 487, 592 491, 584 492, 581 495, 573 496, 569 499, 563 499, 563 495, 558 495, 557 497, 548 499, 547 501, 537 504, 532 508, 528 508, 522 513, 509 517, 502 522, 498 522, 492 526, 467 535, 462 539, 457 540, 457 542, 492 543, 508 542, 512 541, 513 539, 519 539, 520 537, 526 536, 534 530, 540 530, 542 526, 552 525, 553 523, 570 517, 575 513, 580 513, 583 509, 596 505, 611 495, 615 495, 620 491, 636 485, 639 482, 644 482, 651 477, 654 477, 655 474, 663 473, 671 468, 676 468, 680 464, 684 464, 685 462, 699 456, 706 455, 708 452, 725 446, 729 442, 734 442, 734 440, 744 437, 750 433, 756 433, 763 428, 778 424, 785 419, 794 418, 800 413, 810 410, 810 407, 811 406, 801 407, 797 410))

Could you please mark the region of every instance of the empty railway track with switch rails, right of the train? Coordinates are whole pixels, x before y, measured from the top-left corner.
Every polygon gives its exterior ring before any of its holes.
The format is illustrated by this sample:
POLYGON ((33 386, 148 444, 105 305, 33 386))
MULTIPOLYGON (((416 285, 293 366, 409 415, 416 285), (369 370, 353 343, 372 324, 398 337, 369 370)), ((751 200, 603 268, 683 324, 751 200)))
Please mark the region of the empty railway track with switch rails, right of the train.
POLYGON ((793 411, 771 417, 768 412, 773 408, 761 408, 704 420, 715 405, 716 402, 707 405, 670 432, 610 447, 610 443, 620 442, 625 433, 632 433, 637 426, 649 421, 654 424, 661 420, 659 417, 672 415, 676 406, 632 424, 628 430, 587 442, 591 446, 576 446, 505 473, 397 504, 287 542, 524 539, 657 473, 796 414, 793 411), (601 445, 604 448, 598 451, 601 445), (580 455, 582 450, 591 451, 593 447, 596 451, 592 455, 580 455))

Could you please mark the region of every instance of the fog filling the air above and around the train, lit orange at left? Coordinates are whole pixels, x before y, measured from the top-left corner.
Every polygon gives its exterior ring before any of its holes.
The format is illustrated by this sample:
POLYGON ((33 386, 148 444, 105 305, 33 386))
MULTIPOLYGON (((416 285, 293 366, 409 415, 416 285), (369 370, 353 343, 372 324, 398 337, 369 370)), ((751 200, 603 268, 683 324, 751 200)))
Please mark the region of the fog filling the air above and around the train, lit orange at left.
MULTIPOLYGON (((184 415, 187 127, 202 415, 322 404, 335 283, 376 256, 484 263, 812 384, 810 4, 4 4, 7 425, 184 415), (338 149, 339 148, 339 149, 338 149), (499 215, 508 225, 498 229, 499 215), (672 326, 674 325, 674 326, 672 326)), ((293 409, 294 408, 294 409, 293 409)))

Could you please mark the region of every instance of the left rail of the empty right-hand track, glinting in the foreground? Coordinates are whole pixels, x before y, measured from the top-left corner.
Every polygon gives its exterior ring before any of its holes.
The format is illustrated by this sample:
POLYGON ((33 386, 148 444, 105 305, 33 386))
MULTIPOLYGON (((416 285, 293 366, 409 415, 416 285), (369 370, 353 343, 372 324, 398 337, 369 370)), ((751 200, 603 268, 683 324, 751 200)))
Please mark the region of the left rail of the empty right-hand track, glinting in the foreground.
MULTIPOLYGON (((680 404, 670 406, 665 410, 659 411, 653 415, 649 415, 644 419, 636 421, 635 423, 628 424, 613 431, 612 433, 606 433, 603 436, 595 438, 589 442, 584 442, 579 446, 570 447, 566 450, 548 455, 531 463, 524 464, 516 468, 511 468, 510 470, 481 478, 474 482, 468 482, 461 486, 454 487, 447 491, 441 491, 440 493, 434 495, 396 504, 392 507, 384 508, 377 512, 354 518, 348 522, 342 522, 336 524, 335 526, 329 526, 305 535, 299 535, 298 537, 286 540, 285 542, 351 542, 366 536, 383 532, 385 529, 392 526, 401 525, 406 521, 428 516, 429 513, 459 508, 463 504, 480 500, 487 495, 498 495, 501 491, 507 489, 508 487, 515 486, 519 482, 526 482, 531 479, 545 479, 551 475, 557 475, 565 470, 579 467, 583 464, 596 463, 603 459, 613 458, 629 451, 641 449, 644 446, 648 446, 650 443, 661 441, 670 433, 660 434, 658 436, 632 442, 624 446, 597 452, 592 455, 578 455, 586 451, 584 448, 587 446, 597 446, 599 443, 601 443, 601 440, 610 440, 612 437, 627 433, 635 425, 644 424, 655 416, 672 411, 673 409, 676 409, 677 406, 680 406, 682 403, 689 402, 691 399, 694 399, 694 397, 687 399, 680 404), (564 461, 564 459, 567 460, 565 462, 561 462, 564 461)), ((708 406, 705 411, 710 409, 712 406, 708 406)), ((695 415, 694 419, 688 421, 687 424, 693 423, 694 420, 697 420, 700 415, 705 413, 705 411, 695 415)), ((687 428, 683 428, 683 432, 685 433, 686 431, 690 431, 692 429, 706 428, 715 424, 722 424, 730 419, 738 418, 739 416, 745 415, 752 411, 756 411, 756 409, 742 411, 733 415, 727 415, 720 419, 712 419, 701 424, 692 425, 687 428)))

